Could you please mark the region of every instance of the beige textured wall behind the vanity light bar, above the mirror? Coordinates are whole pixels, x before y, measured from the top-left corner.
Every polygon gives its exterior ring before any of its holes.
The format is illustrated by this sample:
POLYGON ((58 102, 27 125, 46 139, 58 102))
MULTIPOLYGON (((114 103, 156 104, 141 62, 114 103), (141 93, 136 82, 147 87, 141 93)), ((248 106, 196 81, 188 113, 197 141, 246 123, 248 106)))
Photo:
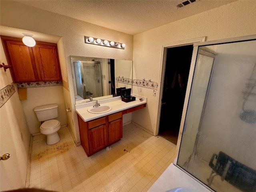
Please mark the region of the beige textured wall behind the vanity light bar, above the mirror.
MULTIPOLYGON (((110 30, 108 28, 103 28, 87 22, 82 22, 80 20, 72 19, 59 14, 54 14, 52 12, 44 11, 38 8, 26 6, 24 4, 20 4, 14 1, 1 1, 0 3, 0 23, 2 26, 26 29, 34 32, 41 32, 62 37, 64 46, 64 60, 66 62, 68 79, 66 78, 65 74, 62 74, 62 77, 64 79, 64 83, 67 81, 67 84, 69 84, 70 91, 69 94, 67 94, 66 91, 68 91, 68 89, 63 90, 64 105, 65 107, 70 105, 70 108, 72 110, 71 113, 66 114, 68 118, 67 121, 69 122, 69 126, 72 130, 72 133, 74 134, 74 138, 79 143, 80 138, 77 116, 74 108, 75 98, 69 56, 74 55, 132 60, 133 36, 122 32, 110 30), (85 44, 85 35, 124 42, 126 44, 126 48, 125 50, 121 50, 85 44)), ((61 68, 63 70, 64 61, 62 60, 60 62, 61 68)))

